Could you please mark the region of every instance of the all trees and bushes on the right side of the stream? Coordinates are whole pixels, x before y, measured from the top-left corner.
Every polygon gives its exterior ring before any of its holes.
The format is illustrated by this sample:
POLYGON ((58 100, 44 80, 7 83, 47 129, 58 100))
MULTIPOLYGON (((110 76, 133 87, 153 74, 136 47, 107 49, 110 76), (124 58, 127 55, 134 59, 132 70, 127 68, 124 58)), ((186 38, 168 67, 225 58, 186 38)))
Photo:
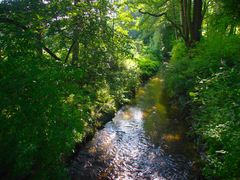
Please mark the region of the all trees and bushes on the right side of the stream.
POLYGON ((164 63, 166 90, 197 134, 203 175, 239 179, 239 1, 130 4, 143 15, 138 24, 143 41, 163 56, 172 48, 170 61, 164 63), (172 29, 166 36, 168 26, 172 29))

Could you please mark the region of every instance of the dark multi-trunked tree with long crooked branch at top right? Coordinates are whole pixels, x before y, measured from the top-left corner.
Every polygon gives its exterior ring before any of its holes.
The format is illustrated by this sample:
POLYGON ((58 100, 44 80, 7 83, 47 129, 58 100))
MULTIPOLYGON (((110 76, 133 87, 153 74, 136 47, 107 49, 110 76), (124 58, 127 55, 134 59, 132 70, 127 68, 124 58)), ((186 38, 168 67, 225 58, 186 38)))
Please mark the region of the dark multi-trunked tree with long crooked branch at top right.
POLYGON ((163 17, 163 20, 170 22, 179 36, 184 40, 187 47, 192 47, 195 43, 200 41, 207 1, 165 0, 157 4, 152 1, 148 1, 148 3, 143 3, 141 1, 140 4, 143 5, 143 8, 139 9, 140 13, 153 17, 163 17), (148 10, 153 6, 156 6, 154 11, 161 11, 161 13, 155 13, 148 10), (179 20, 177 20, 176 14, 180 14, 179 20))

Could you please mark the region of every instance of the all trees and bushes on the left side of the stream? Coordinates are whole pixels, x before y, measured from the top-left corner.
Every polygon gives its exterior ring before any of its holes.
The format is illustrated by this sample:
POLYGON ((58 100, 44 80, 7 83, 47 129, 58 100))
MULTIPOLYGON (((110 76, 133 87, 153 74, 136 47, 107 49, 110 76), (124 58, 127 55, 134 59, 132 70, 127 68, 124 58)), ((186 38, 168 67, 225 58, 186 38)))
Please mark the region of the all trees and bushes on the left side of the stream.
POLYGON ((76 143, 133 96, 141 71, 112 8, 1 1, 0 178, 67 178, 76 143))

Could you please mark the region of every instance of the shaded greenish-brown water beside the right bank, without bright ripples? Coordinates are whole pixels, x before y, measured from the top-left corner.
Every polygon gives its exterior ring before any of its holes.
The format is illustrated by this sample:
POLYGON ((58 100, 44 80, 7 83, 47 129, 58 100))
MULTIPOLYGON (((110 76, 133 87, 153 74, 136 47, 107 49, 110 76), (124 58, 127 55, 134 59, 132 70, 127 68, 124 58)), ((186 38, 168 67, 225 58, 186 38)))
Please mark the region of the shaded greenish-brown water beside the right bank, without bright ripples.
MULTIPOLYGON (((193 143, 187 137, 188 125, 179 121, 178 114, 172 114, 168 106, 168 97, 164 92, 164 80, 160 75, 152 78, 136 94, 136 105, 143 111, 144 130, 155 145, 161 145, 165 151, 196 158, 193 143)), ((176 113, 176 111, 173 111, 176 113)))

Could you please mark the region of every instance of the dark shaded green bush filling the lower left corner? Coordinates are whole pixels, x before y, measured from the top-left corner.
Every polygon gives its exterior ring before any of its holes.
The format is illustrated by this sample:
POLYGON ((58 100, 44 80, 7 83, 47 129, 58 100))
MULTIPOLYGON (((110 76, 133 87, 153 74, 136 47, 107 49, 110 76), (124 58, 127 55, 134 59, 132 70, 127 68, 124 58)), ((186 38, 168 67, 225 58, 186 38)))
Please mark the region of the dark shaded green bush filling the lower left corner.
POLYGON ((82 71, 25 57, 1 61, 0 76, 0 174, 63 178, 89 117, 82 71))

